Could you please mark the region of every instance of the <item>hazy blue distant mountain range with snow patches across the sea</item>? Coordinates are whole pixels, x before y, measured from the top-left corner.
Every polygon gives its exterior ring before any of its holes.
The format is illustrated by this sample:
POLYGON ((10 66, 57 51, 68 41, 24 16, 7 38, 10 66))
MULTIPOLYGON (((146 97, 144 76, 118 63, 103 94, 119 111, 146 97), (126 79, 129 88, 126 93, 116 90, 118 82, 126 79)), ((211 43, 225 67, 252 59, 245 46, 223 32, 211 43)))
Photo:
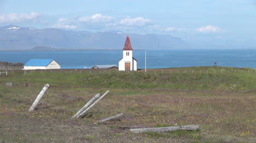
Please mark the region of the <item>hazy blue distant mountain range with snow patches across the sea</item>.
MULTIPOLYGON (((85 32, 14 25, 0 27, 0 50, 55 51, 56 49, 123 49, 127 33, 85 32)), ((172 35, 129 34, 133 49, 181 49, 188 43, 172 35)))

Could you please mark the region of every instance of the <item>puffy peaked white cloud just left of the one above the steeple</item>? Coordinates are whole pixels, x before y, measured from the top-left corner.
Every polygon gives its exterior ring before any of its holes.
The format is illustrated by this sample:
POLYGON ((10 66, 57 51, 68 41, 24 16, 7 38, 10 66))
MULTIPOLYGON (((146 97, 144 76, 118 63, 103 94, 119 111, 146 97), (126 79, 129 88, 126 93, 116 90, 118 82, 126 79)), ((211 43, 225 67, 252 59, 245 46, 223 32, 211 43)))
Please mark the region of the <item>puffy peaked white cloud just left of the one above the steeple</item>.
POLYGON ((109 24, 109 23, 115 22, 115 17, 95 14, 90 17, 81 17, 79 18, 79 21, 89 25, 90 24, 109 24))

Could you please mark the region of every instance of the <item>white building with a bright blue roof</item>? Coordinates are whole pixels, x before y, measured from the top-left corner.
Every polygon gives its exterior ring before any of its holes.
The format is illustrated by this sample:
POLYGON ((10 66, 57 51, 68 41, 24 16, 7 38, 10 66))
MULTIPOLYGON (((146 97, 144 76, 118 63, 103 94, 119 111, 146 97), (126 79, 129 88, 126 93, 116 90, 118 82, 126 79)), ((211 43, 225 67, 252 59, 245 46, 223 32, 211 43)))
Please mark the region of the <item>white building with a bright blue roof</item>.
POLYGON ((24 70, 49 70, 60 69, 60 65, 54 59, 30 59, 24 70))

